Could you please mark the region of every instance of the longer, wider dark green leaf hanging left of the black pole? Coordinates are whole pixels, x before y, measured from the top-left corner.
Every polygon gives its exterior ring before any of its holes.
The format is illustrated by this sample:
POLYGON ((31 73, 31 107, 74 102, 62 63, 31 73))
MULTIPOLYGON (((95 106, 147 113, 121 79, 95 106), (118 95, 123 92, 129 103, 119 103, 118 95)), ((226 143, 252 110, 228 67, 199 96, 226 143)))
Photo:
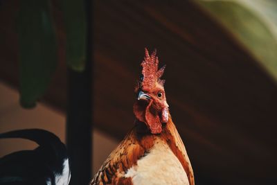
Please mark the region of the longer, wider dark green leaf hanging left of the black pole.
POLYGON ((57 66, 57 45, 48 0, 20 1, 19 91, 23 107, 44 95, 57 66))

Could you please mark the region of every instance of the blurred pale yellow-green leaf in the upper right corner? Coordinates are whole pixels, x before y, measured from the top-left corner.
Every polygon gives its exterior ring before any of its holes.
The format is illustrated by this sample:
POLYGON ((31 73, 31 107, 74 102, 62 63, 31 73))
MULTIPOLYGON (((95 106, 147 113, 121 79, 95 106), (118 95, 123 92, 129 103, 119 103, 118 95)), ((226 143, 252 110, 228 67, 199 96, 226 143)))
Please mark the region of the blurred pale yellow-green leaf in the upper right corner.
POLYGON ((197 1, 260 62, 277 81, 277 1, 197 1))

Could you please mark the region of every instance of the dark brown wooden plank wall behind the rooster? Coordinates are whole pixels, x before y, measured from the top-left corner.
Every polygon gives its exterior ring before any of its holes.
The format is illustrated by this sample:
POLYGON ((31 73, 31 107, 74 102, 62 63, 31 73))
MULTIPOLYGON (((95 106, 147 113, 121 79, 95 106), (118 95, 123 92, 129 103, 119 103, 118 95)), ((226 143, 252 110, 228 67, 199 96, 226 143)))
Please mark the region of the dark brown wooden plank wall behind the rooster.
MULTIPOLYGON (((0 10, 0 78, 17 85, 17 1, 0 10), (3 26, 5 25, 5 26, 3 26)), ((66 107, 64 42, 54 3, 60 65, 44 102, 66 107)), ((122 139, 132 127, 134 85, 144 48, 167 64, 170 113, 197 184, 277 182, 276 82, 192 1, 94 1, 96 127, 122 139)))

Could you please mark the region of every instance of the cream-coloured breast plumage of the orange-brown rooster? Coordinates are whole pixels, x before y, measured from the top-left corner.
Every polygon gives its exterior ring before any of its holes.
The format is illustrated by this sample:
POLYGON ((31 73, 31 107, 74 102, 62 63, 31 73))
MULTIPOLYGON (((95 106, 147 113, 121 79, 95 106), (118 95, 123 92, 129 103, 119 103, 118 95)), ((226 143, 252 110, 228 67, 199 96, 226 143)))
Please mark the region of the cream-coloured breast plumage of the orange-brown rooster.
POLYGON ((188 177, 179 159, 161 140, 155 142, 147 155, 127 170, 125 177, 131 177, 134 185, 178 184, 188 185, 188 177))

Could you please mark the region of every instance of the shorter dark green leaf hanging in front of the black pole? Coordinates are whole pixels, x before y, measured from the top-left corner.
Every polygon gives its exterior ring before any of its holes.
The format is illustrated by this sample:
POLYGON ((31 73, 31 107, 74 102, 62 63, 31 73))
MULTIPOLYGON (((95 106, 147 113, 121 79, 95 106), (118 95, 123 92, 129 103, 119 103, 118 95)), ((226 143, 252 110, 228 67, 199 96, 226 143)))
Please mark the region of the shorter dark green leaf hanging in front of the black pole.
POLYGON ((66 28, 66 62, 75 71, 83 71, 87 53, 87 19, 84 0, 63 0, 66 28))

